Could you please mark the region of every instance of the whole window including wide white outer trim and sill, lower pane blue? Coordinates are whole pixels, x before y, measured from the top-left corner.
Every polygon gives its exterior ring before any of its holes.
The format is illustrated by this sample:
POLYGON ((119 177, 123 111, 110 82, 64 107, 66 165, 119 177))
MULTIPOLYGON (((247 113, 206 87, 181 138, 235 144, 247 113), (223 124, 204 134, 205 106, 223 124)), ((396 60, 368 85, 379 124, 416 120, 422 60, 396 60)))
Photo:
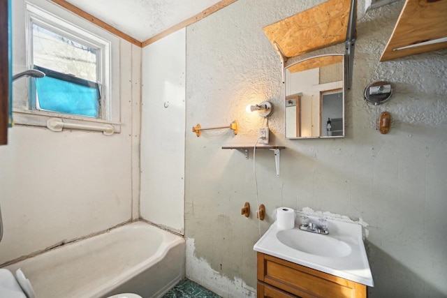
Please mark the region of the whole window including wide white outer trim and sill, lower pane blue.
POLYGON ((45 77, 15 82, 15 124, 47 126, 58 118, 110 124, 119 133, 119 37, 52 1, 27 0, 24 8, 14 11, 13 73, 34 68, 45 77))

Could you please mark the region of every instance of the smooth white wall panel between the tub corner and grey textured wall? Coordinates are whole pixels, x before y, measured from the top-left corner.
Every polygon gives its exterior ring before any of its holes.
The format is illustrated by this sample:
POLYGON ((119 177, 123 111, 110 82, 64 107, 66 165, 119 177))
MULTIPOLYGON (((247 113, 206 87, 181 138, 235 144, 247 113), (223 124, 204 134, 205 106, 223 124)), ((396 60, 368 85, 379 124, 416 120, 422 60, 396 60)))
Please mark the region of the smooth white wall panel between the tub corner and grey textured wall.
POLYGON ((142 50, 141 216, 184 233, 186 29, 142 50))

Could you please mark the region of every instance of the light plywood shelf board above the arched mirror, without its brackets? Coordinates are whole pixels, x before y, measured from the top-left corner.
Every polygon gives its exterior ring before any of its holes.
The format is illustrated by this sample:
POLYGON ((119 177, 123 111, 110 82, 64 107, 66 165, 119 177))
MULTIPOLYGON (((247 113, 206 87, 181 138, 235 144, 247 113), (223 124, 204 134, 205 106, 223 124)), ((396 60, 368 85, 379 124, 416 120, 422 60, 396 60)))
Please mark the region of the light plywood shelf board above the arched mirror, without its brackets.
POLYGON ((343 43, 351 0, 329 0, 263 28, 287 58, 343 43))

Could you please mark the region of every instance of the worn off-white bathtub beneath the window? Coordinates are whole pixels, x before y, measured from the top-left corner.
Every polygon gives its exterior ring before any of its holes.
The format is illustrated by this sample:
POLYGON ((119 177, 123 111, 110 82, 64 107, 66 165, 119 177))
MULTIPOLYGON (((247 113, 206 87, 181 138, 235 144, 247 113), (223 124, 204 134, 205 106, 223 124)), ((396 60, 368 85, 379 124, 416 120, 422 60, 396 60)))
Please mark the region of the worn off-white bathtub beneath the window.
POLYGON ((141 221, 66 244, 6 268, 22 268, 37 298, 133 292, 160 297, 184 278, 185 241, 141 221))

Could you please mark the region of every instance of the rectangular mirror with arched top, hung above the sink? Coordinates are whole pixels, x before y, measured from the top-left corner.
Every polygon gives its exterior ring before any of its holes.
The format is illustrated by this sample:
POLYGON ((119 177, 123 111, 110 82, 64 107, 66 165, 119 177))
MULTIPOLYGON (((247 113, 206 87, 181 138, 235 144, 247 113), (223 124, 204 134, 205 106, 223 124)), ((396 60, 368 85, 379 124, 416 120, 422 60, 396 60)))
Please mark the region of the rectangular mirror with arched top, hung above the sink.
POLYGON ((321 55, 285 68, 286 138, 344 137, 343 59, 321 55))

